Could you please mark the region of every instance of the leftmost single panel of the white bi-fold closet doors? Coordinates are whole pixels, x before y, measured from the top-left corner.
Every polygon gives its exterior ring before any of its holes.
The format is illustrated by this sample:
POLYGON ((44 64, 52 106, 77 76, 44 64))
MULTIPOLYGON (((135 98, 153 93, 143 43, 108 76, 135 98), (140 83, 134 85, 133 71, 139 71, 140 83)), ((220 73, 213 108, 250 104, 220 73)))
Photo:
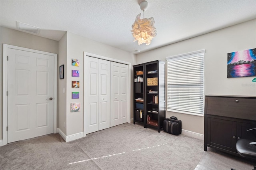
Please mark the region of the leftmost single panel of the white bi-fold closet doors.
POLYGON ((99 130, 99 93, 98 93, 99 59, 86 56, 85 59, 85 79, 86 99, 86 134, 99 130))

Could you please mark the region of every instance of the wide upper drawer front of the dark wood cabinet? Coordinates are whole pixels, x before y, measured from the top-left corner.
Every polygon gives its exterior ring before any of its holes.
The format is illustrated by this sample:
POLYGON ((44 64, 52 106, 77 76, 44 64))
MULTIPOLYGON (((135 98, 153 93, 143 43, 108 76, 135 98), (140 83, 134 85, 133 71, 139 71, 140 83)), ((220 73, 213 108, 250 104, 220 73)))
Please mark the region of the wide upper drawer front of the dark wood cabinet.
POLYGON ((256 121, 256 98, 206 96, 205 114, 256 121))

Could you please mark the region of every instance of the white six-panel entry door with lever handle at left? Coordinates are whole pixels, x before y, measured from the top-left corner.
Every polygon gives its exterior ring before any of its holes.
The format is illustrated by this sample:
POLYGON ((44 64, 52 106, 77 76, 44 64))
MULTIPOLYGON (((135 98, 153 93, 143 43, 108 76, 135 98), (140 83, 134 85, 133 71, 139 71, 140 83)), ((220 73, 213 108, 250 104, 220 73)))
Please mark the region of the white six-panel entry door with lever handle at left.
POLYGON ((8 143, 54 132, 54 56, 8 49, 8 143))

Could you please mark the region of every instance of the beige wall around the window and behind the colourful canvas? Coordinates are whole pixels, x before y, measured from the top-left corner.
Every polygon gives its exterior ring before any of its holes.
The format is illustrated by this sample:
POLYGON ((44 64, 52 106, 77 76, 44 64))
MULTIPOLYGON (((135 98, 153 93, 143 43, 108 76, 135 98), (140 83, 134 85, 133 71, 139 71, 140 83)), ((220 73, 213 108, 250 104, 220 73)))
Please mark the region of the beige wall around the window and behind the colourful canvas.
MULTIPOLYGON (((254 77, 227 78, 227 53, 252 48, 256 48, 256 20, 138 54, 137 64, 157 59, 166 61, 169 56, 205 49, 205 95, 256 96, 254 77)), ((182 120, 182 129, 204 134, 204 117, 167 111, 166 117, 170 116, 182 120)))

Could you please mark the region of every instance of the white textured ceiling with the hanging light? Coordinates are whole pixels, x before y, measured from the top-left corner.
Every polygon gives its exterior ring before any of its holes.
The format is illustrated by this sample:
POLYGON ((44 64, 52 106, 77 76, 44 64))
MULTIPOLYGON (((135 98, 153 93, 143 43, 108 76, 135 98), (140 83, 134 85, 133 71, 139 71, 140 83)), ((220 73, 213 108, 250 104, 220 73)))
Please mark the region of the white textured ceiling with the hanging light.
POLYGON ((16 21, 36 26, 36 35, 57 41, 68 31, 135 53, 256 18, 256 0, 147 0, 144 15, 154 17, 157 36, 138 45, 130 30, 141 1, 0 0, 0 23, 16 30, 16 21))

